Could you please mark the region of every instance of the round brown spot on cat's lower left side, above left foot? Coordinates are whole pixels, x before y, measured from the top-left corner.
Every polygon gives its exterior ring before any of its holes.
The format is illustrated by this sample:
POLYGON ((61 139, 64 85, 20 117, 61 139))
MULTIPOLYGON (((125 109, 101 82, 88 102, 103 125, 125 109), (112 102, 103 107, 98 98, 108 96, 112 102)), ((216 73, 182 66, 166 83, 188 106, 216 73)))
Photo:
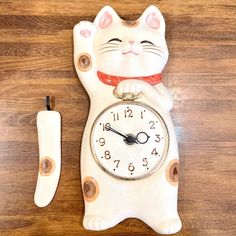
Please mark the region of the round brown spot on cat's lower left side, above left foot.
POLYGON ((93 177, 86 177, 84 179, 83 194, 84 194, 84 199, 87 202, 92 202, 97 198, 99 194, 99 188, 97 181, 93 177))

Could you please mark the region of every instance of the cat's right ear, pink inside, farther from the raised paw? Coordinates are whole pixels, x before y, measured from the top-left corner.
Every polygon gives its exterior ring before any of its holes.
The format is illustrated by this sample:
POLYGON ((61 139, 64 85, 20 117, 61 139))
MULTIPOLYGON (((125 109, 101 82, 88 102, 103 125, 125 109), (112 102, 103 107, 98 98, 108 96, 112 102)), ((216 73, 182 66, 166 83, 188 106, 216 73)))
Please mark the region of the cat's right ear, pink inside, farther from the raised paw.
POLYGON ((154 30, 159 30, 165 35, 165 20, 159 9, 153 5, 149 6, 140 17, 141 24, 154 30))

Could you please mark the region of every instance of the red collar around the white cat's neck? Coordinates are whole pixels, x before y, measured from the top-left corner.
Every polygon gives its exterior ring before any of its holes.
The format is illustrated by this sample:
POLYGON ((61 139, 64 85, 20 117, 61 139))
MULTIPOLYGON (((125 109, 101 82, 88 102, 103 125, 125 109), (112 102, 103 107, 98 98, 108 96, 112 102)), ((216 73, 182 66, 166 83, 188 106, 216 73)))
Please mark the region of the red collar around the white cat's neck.
POLYGON ((161 82, 161 74, 155 74, 150 76, 141 76, 141 77, 122 77, 115 75, 108 75, 101 71, 97 72, 98 78, 104 83, 112 86, 117 86, 122 80, 126 79, 139 79, 148 82, 151 85, 156 85, 161 82))

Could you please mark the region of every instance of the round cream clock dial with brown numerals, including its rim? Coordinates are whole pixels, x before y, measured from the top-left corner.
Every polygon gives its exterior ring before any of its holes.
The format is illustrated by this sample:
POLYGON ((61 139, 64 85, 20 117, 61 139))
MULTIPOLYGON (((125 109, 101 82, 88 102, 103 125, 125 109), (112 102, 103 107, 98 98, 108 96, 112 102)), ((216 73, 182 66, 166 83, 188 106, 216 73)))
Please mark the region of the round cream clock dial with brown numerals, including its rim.
POLYGON ((138 102, 120 102, 105 109, 91 131, 96 162, 121 179, 140 179, 163 163, 169 135, 162 117, 138 102))

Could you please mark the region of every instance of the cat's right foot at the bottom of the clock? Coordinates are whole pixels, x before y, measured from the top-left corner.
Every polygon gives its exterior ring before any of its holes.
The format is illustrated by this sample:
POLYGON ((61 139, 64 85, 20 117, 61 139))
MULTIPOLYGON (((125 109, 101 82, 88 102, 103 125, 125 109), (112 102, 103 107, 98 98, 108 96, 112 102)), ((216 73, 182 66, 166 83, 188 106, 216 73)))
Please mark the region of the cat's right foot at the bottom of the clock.
POLYGON ((160 234, 174 234, 180 231, 182 223, 180 219, 172 219, 158 224, 156 231, 160 234))

